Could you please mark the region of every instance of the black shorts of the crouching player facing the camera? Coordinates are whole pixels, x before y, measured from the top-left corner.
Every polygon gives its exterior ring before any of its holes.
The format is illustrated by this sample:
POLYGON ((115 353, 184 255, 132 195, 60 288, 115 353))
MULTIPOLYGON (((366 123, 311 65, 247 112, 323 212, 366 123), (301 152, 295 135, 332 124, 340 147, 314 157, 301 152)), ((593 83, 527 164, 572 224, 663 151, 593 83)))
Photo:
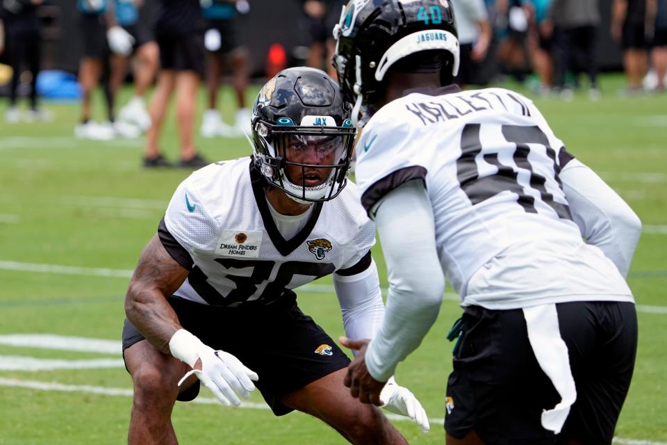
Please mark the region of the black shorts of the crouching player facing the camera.
MULTIPOLYGON (((293 411, 281 403, 283 396, 349 364, 322 327, 301 312, 293 292, 255 309, 211 307, 182 298, 168 301, 184 329, 211 348, 235 355, 259 375, 255 385, 277 416, 293 411)), ((125 320, 123 350, 142 339, 125 320)), ((179 394, 178 400, 191 401, 198 393, 199 381, 179 394)))

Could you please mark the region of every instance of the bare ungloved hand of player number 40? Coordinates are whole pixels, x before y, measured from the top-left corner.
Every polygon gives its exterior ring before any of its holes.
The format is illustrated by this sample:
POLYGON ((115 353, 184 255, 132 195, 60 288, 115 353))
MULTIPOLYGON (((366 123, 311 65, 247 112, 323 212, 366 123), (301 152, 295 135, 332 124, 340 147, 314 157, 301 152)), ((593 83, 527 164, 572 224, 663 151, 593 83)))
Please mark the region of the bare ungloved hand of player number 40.
POLYGON ((349 388, 352 397, 359 398, 361 403, 372 403, 376 406, 384 405, 380 400, 380 392, 386 382, 378 382, 366 369, 365 353, 370 339, 352 340, 340 337, 340 344, 346 348, 356 350, 356 356, 347 366, 347 374, 343 383, 349 388))

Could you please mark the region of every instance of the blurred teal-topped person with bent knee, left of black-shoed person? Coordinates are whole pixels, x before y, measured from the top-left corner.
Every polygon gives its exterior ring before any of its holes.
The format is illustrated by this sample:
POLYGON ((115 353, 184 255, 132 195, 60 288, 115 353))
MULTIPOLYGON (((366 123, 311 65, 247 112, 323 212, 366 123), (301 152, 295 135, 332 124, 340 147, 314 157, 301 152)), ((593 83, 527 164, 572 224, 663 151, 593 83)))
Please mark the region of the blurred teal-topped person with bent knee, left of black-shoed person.
POLYGON ((146 109, 144 96, 155 79, 158 70, 159 49, 153 33, 139 21, 139 8, 143 0, 113 0, 113 19, 133 38, 132 46, 126 53, 115 53, 111 58, 110 88, 115 97, 133 61, 134 95, 118 113, 119 123, 130 124, 146 131, 151 126, 151 118, 146 109))

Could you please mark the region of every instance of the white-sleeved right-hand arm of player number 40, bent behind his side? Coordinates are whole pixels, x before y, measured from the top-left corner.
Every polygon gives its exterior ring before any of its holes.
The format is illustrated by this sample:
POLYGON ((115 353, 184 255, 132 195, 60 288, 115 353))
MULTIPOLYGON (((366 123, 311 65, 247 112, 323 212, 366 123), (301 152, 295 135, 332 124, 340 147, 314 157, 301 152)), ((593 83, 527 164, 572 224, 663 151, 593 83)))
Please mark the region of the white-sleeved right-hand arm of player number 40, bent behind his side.
POLYGON ((639 217, 623 198, 581 161, 568 158, 561 167, 559 177, 573 220, 586 238, 586 243, 600 248, 616 264, 623 277, 627 276, 641 235, 639 217))

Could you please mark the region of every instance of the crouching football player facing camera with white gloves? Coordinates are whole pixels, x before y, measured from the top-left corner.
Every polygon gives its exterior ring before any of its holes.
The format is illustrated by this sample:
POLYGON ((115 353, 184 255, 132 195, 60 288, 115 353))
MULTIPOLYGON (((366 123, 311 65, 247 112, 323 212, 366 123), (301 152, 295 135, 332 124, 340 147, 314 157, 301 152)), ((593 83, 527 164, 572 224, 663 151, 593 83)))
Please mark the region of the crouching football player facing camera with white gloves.
MULTIPOLYGON (((384 316, 374 224, 347 181, 348 112, 324 72, 283 70, 254 103, 252 157, 208 165, 176 189, 126 296, 130 443, 174 443, 172 407, 200 383, 224 405, 257 387, 277 416, 311 414, 354 444, 406 443, 349 395, 349 359, 293 291, 333 274, 350 337, 372 336, 384 316)), ((392 382, 381 398, 428 430, 408 389, 392 382)))

